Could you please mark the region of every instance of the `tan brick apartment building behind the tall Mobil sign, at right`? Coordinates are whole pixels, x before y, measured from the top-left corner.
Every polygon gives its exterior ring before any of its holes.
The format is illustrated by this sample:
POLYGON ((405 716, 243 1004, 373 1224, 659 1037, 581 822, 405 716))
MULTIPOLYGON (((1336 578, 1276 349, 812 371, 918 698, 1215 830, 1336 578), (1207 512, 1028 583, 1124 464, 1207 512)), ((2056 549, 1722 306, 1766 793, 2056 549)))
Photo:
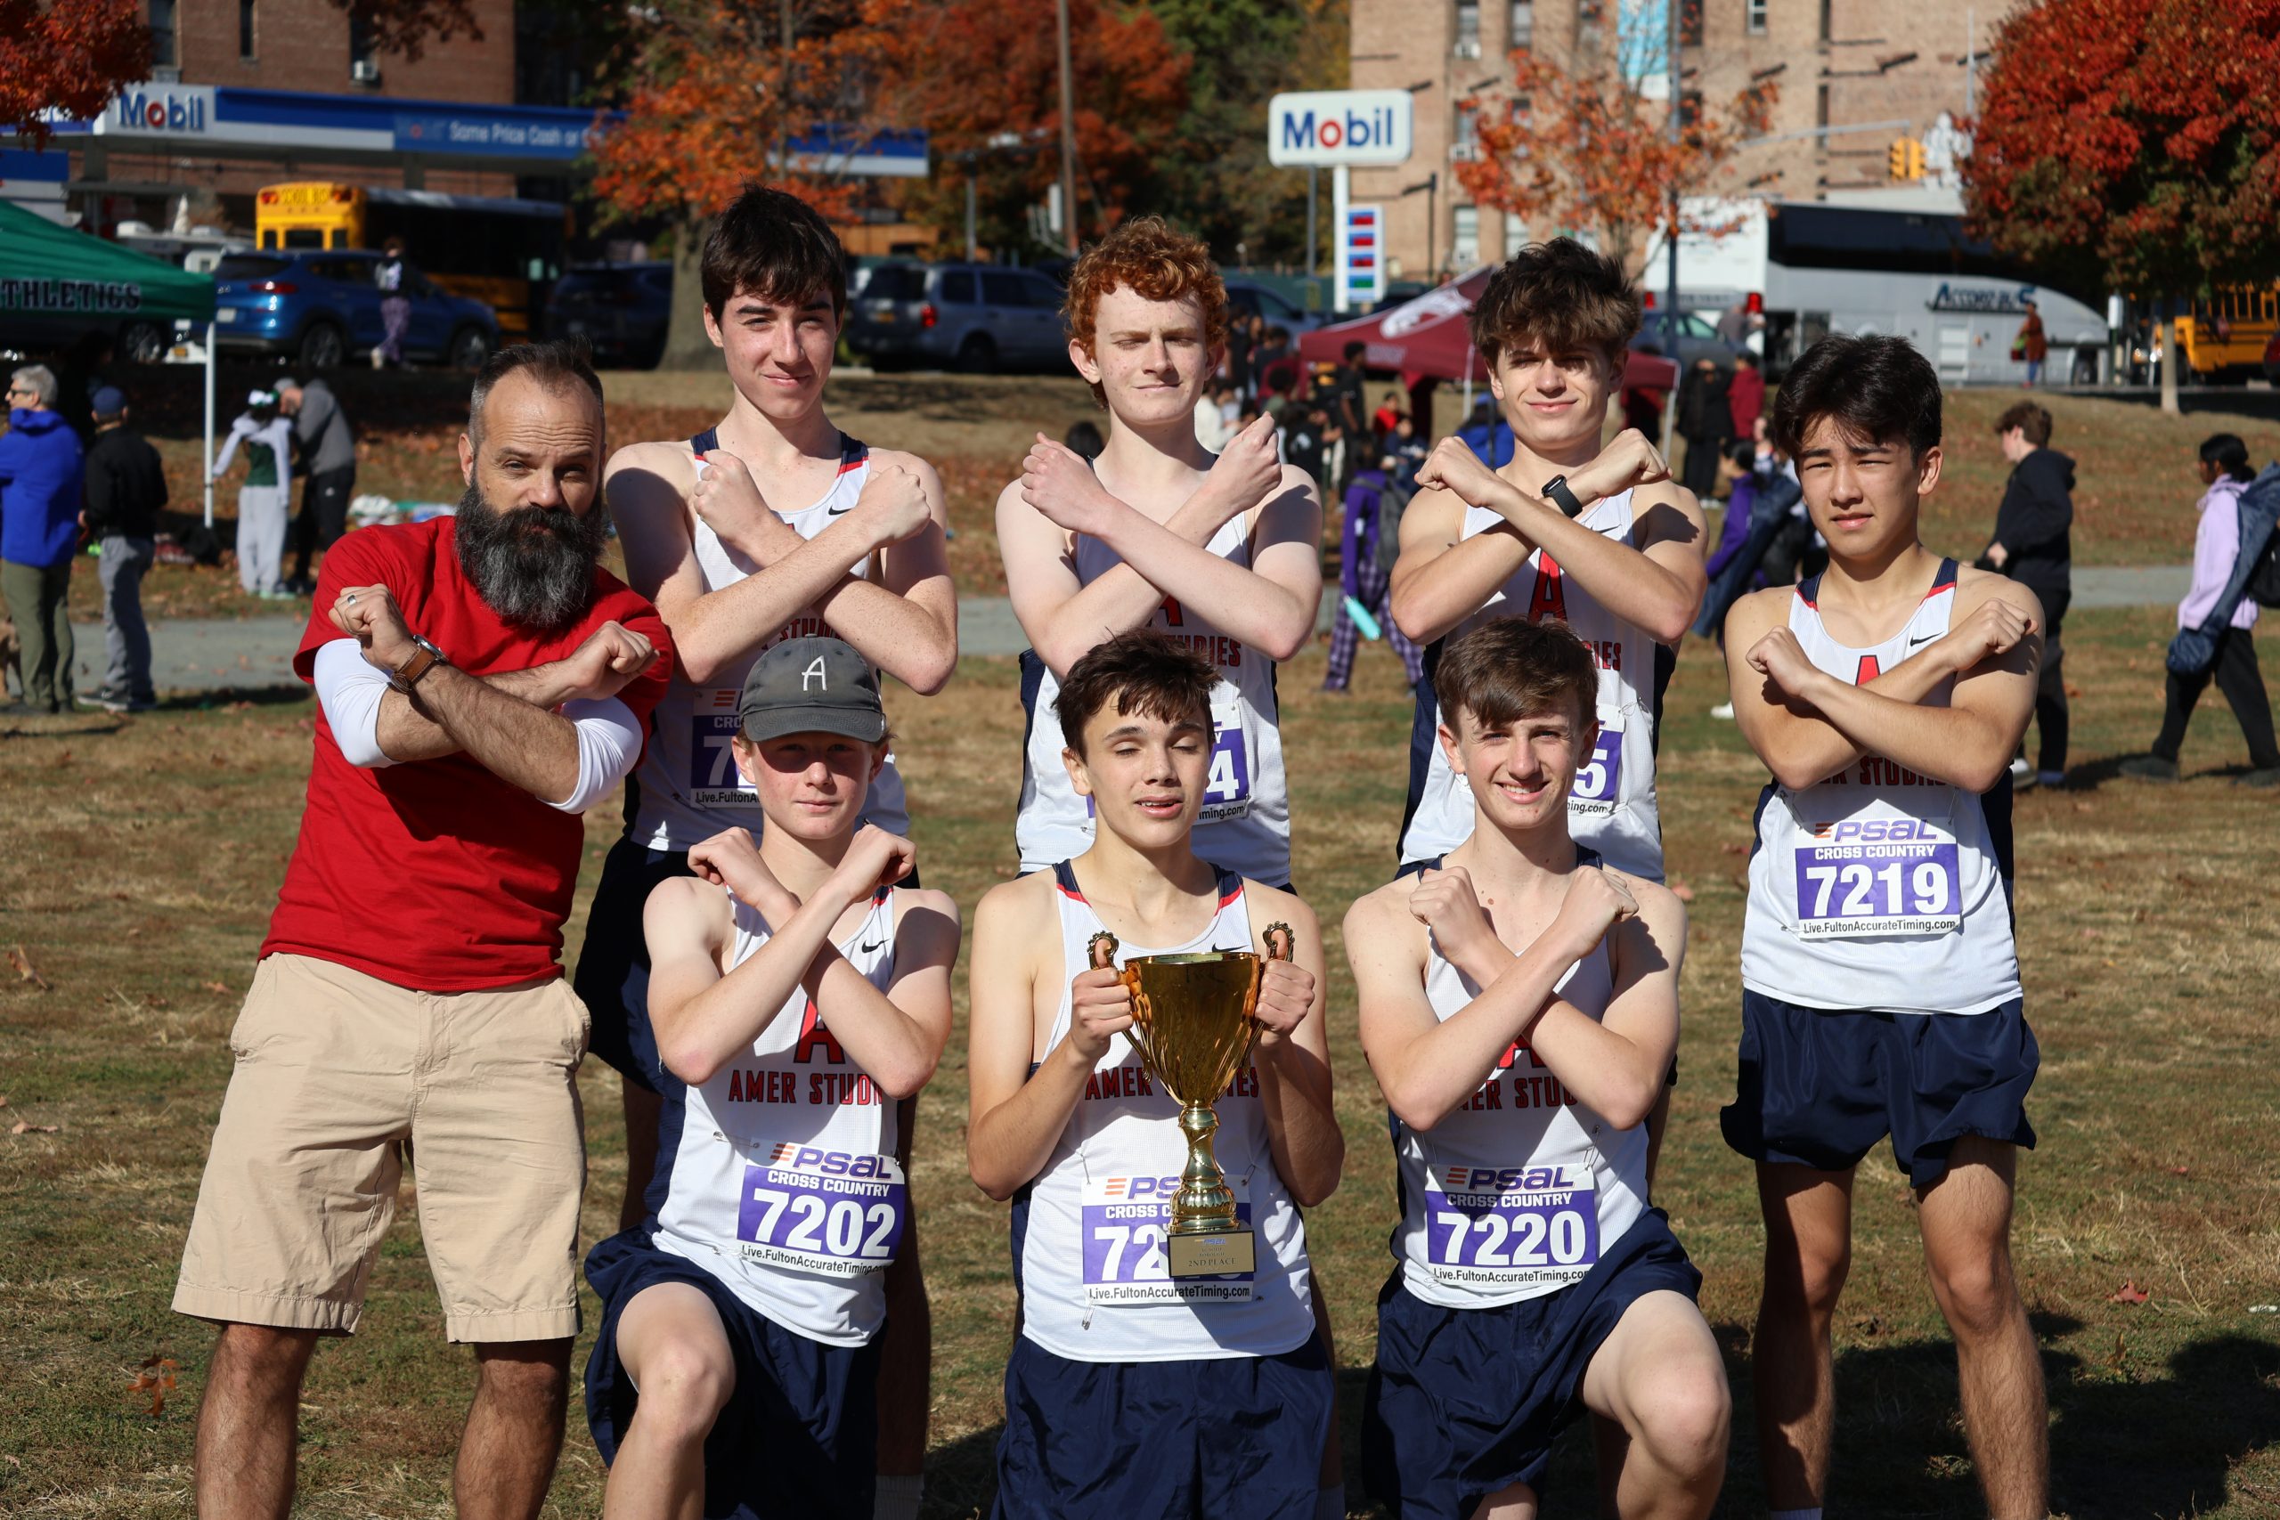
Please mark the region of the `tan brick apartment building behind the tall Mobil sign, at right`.
MULTIPOLYGON (((1461 100, 1509 82, 1505 59, 1514 48, 1541 50, 1566 68, 1612 59, 1619 9, 1628 16, 1642 2, 1648 0, 1352 0, 1352 87, 1407 89, 1416 100, 1411 160, 1352 173, 1354 201, 1386 207, 1386 246, 1400 276, 1464 271, 1528 239, 1530 228, 1518 219, 1468 205, 1450 173, 1475 150, 1471 125, 1459 121, 1461 100), (1441 175, 1439 194, 1409 189, 1432 173, 1441 175)), ((1765 132, 1772 141, 1744 150, 1721 189, 1817 201, 1888 185, 1886 153, 1895 139, 1922 139, 1943 112, 1963 116, 1965 52, 1977 46, 1984 59, 2006 5, 1699 0, 1694 11, 1689 2, 1680 89, 1712 107, 1753 80, 1778 91, 1765 132), (1968 23, 1977 32, 1972 43, 1968 23)), ((1669 98, 1660 80, 1648 89, 1669 98)))

